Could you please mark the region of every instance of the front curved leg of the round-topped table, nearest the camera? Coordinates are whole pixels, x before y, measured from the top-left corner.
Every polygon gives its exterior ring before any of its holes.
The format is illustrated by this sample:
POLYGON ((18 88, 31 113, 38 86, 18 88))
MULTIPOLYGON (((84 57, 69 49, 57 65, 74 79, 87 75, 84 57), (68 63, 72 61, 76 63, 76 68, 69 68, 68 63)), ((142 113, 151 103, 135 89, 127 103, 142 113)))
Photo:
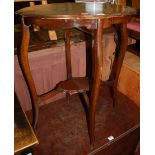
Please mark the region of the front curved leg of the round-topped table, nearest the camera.
MULTIPOLYGON (((103 31, 103 21, 102 19, 98 20, 98 29, 97 34, 95 35, 96 39, 94 44, 96 44, 96 48, 94 51, 95 54, 95 67, 94 69, 94 79, 93 85, 91 89, 91 96, 90 96, 90 111, 89 111, 89 131, 90 131, 90 143, 94 146, 95 140, 95 111, 96 111, 96 104, 99 94, 101 76, 102 76, 102 61, 103 61, 103 53, 102 53, 102 31, 103 31)), ((94 66, 93 66, 94 67, 94 66)))

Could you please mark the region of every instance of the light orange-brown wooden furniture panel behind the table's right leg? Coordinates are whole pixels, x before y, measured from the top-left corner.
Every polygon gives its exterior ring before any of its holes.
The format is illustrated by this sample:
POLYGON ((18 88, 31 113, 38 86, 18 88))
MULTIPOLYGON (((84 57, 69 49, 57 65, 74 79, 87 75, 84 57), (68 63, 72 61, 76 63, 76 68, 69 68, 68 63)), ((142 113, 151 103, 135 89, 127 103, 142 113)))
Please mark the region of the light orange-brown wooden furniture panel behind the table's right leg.
POLYGON ((140 57, 129 51, 121 68, 118 90, 140 108, 140 57))

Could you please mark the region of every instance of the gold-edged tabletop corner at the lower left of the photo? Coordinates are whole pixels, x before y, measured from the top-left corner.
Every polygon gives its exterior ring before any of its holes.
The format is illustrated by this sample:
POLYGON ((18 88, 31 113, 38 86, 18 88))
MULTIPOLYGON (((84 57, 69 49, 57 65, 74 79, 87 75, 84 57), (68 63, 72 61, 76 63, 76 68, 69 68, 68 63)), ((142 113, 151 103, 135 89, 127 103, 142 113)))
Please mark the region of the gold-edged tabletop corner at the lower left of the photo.
POLYGON ((14 100, 14 153, 18 153, 39 142, 16 95, 14 100))

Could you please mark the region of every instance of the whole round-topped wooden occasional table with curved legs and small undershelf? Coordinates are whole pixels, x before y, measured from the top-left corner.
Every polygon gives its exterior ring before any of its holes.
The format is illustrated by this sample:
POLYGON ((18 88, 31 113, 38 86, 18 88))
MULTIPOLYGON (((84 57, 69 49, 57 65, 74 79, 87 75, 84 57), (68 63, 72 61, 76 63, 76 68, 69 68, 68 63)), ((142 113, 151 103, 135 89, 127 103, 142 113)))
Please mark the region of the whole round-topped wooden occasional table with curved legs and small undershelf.
MULTIPOLYGON (((99 87, 102 77, 102 59, 104 51, 102 51, 102 34, 103 29, 112 25, 118 25, 118 46, 116 48, 116 56, 114 65, 109 78, 112 85, 110 86, 113 101, 116 102, 116 89, 118 77, 122 66, 124 54, 127 46, 127 30, 126 24, 130 16, 135 14, 135 9, 112 5, 109 3, 100 3, 99 10, 89 10, 89 3, 59 3, 38 5, 27 7, 17 11, 22 17, 23 38, 21 50, 19 54, 19 62, 25 76, 29 92, 32 100, 33 110, 33 126, 35 127, 38 120, 39 103, 60 92, 64 92, 67 96, 74 93, 81 93, 86 107, 89 111, 89 133, 91 144, 94 143, 95 130, 95 110, 98 99, 99 87), (28 63, 28 45, 30 39, 30 25, 38 25, 48 29, 66 29, 66 65, 67 80, 62 82, 54 90, 38 95, 35 83, 31 75, 28 63), (71 69, 70 56, 70 29, 86 27, 93 31, 93 47, 92 47, 92 80, 88 78, 73 78, 71 69), (90 96, 87 92, 90 91, 90 96)), ((94 8, 92 6, 92 8, 94 8)))

